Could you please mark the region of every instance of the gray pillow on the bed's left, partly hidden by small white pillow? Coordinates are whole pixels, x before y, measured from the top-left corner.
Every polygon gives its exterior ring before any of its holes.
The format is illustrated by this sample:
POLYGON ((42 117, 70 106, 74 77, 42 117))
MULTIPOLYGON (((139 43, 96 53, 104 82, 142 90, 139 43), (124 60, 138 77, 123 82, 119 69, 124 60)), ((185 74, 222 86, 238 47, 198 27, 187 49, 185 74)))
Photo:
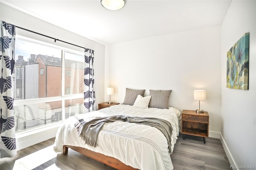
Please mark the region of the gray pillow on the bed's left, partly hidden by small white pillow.
POLYGON ((144 90, 135 90, 126 88, 126 93, 124 97, 124 105, 134 105, 134 102, 138 95, 144 96, 144 90))

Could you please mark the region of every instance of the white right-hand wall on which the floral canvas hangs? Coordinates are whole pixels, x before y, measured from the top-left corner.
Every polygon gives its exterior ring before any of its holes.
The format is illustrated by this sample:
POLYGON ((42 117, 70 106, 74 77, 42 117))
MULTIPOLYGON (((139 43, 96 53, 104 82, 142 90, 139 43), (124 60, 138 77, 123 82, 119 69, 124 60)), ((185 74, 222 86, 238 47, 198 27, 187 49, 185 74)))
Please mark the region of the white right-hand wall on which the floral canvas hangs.
POLYGON ((232 1, 222 23, 221 137, 231 164, 256 168, 256 1, 232 1), (226 88, 227 51, 250 32, 249 90, 226 88))

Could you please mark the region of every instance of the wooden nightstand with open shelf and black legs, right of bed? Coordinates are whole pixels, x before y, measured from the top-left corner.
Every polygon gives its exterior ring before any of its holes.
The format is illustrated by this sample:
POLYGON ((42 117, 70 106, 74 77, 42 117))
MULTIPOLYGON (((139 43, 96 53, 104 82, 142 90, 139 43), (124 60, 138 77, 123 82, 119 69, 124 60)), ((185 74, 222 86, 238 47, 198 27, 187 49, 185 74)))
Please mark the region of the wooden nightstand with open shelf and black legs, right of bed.
POLYGON ((184 134, 183 139, 185 139, 186 134, 190 134, 203 137, 205 143, 205 137, 209 136, 208 112, 196 113, 196 111, 183 110, 181 120, 181 133, 184 134))

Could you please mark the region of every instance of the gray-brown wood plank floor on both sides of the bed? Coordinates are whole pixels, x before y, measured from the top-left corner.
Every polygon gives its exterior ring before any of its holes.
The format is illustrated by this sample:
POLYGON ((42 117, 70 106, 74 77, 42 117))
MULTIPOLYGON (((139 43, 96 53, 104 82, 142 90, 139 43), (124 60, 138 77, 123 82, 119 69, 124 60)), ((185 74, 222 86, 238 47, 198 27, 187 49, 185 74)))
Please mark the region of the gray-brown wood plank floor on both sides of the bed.
MULTIPOLYGON (((1 170, 114 170, 74 150, 55 153, 54 138, 24 148, 13 158, 0 159, 1 170)), ((180 134, 171 155, 174 170, 230 170, 219 139, 180 134)))

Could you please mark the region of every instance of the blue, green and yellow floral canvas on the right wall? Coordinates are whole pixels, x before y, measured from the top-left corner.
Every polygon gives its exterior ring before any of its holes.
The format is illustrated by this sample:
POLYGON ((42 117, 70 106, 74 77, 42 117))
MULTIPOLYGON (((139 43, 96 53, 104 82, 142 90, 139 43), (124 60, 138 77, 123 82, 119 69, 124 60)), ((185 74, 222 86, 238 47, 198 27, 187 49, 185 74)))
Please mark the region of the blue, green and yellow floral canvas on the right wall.
POLYGON ((227 53, 227 87, 248 90, 249 33, 245 33, 227 53))

